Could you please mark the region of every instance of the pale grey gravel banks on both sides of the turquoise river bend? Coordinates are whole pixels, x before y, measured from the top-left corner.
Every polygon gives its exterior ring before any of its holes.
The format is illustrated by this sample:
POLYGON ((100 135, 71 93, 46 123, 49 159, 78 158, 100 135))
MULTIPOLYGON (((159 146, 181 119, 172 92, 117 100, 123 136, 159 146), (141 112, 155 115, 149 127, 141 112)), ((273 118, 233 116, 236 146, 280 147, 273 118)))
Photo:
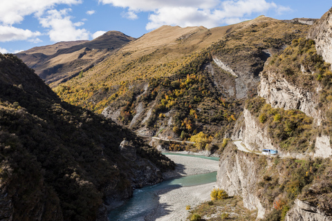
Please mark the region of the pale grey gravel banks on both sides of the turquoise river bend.
MULTIPOLYGON (((211 173, 218 169, 219 162, 197 157, 167 155, 176 163, 176 170, 165 174, 165 178, 211 173)), ((196 186, 183 186, 176 189, 167 189, 158 192, 159 204, 145 220, 167 221, 185 220, 189 211, 187 205, 197 206, 201 202, 210 200, 210 193, 216 182, 196 186)))

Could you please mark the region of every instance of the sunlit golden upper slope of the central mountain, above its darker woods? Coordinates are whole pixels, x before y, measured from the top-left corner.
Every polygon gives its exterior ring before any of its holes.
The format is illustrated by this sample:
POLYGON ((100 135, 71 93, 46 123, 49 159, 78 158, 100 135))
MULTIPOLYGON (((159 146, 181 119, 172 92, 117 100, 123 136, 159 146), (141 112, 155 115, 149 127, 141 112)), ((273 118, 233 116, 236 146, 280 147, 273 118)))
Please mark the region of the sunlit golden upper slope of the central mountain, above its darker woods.
MULTIPOLYGON (((270 49, 268 52, 273 53, 291 39, 305 36, 307 30, 308 26, 301 23, 264 16, 212 29, 162 26, 131 41, 55 91, 71 104, 101 113, 133 85, 152 77, 175 75, 191 64, 200 65, 193 69, 196 72, 203 70, 214 56, 222 57, 235 70, 255 68, 257 62, 247 62, 255 51, 270 49)), ((264 66, 264 60, 259 62, 259 66, 264 66)))

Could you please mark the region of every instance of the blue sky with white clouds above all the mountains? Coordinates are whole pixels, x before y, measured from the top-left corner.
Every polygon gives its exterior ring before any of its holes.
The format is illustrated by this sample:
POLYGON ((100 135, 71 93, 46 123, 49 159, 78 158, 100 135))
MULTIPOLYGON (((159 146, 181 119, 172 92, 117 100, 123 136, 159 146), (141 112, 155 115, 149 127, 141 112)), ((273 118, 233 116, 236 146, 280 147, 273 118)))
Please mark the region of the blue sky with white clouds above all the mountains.
POLYGON ((254 19, 319 19, 329 0, 1 0, 0 52, 92 40, 109 30, 140 37, 163 25, 214 28, 254 19))

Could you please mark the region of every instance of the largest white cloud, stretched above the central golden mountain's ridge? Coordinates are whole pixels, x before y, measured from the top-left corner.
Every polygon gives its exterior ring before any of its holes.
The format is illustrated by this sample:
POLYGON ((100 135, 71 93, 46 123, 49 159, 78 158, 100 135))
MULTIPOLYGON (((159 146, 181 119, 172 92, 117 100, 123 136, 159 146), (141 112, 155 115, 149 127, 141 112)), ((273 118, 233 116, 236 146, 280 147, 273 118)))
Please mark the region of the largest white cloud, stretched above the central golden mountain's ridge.
POLYGON ((138 12, 151 12, 147 30, 163 25, 205 26, 246 20, 253 13, 290 10, 269 0, 99 0, 100 3, 126 8, 124 17, 137 19, 138 12))

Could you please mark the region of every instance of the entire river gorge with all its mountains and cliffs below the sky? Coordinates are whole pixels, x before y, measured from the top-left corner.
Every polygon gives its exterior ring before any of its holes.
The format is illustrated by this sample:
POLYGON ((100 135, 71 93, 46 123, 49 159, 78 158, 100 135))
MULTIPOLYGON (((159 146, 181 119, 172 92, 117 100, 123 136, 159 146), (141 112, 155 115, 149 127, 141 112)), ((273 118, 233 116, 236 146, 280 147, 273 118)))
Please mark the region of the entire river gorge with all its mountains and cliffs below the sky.
POLYGON ((332 8, 1 54, 0 220, 332 220, 331 36, 332 8))

